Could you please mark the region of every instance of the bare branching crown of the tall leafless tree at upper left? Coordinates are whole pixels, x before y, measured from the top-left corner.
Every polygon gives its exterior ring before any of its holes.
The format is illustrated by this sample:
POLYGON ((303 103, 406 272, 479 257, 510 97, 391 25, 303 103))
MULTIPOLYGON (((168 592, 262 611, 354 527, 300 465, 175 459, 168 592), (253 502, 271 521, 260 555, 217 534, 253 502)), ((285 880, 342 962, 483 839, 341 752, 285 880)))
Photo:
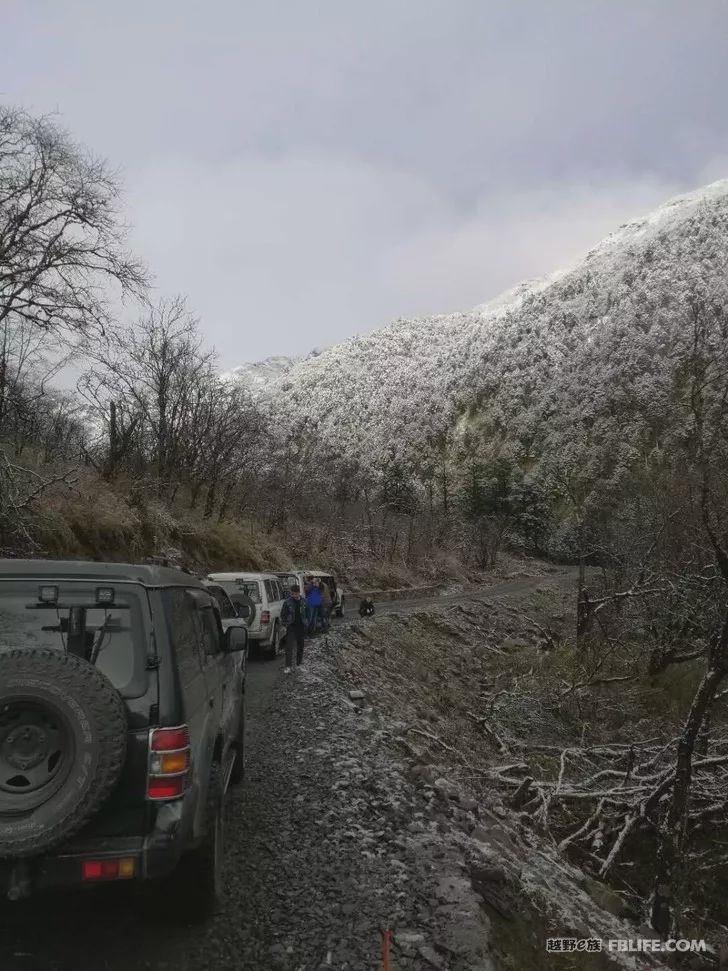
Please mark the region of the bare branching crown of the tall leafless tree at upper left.
POLYGON ((122 296, 146 284, 114 174, 50 119, 0 107, 0 325, 103 330, 109 282, 122 296))

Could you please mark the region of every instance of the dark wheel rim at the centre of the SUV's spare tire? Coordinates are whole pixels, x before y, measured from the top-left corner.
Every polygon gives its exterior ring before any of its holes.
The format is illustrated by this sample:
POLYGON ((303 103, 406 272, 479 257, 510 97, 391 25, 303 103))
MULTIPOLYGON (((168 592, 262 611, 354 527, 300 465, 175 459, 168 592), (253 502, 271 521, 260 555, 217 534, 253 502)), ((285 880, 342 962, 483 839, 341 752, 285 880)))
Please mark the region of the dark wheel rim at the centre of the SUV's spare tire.
POLYGON ((35 701, 0 705, 0 812, 47 802, 70 772, 73 736, 58 712, 35 701))

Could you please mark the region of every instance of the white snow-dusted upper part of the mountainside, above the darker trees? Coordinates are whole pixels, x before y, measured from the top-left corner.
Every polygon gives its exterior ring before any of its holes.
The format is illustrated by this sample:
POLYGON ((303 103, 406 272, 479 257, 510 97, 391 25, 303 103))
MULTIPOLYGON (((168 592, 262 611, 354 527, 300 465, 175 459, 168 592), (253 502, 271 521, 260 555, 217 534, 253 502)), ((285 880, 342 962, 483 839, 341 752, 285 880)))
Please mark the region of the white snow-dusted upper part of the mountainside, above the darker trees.
POLYGON ((696 289, 722 294, 727 271, 728 180, 625 224, 566 271, 469 313, 347 340, 282 370, 267 390, 289 418, 366 464, 423 459, 464 427, 540 451, 559 428, 596 434, 609 416, 618 424, 615 414, 641 409, 657 426, 661 362, 685 301, 696 289))

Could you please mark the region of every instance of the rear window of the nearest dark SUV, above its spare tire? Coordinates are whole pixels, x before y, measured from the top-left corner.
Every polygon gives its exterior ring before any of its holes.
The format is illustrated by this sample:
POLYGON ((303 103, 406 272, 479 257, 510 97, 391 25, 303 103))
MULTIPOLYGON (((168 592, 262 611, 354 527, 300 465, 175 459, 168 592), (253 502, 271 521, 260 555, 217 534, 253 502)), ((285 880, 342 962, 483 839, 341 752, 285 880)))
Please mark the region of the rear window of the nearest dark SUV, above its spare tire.
POLYGON ((51 648, 77 654, 102 671, 126 698, 146 691, 148 618, 146 591, 135 584, 0 582, 0 650, 51 648), (99 603, 100 591, 112 602, 99 603), (48 595, 56 593, 52 602, 48 595))

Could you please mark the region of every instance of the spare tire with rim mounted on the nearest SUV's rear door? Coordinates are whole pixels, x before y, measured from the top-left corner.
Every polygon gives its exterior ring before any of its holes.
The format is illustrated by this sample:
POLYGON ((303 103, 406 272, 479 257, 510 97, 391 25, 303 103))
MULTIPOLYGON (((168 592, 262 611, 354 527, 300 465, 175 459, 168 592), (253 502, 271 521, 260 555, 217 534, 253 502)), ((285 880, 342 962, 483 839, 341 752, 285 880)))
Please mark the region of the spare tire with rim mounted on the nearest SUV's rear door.
POLYGON ((124 702, 97 668, 54 650, 0 651, 0 858, 77 832, 126 757, 124 702))

